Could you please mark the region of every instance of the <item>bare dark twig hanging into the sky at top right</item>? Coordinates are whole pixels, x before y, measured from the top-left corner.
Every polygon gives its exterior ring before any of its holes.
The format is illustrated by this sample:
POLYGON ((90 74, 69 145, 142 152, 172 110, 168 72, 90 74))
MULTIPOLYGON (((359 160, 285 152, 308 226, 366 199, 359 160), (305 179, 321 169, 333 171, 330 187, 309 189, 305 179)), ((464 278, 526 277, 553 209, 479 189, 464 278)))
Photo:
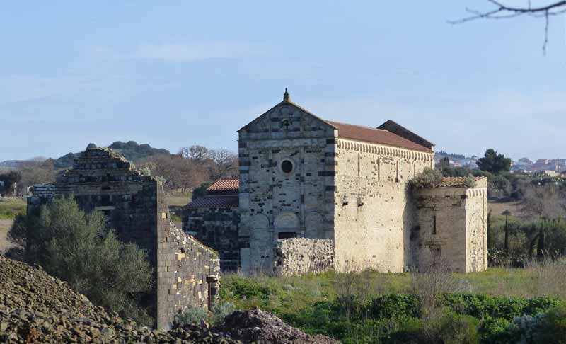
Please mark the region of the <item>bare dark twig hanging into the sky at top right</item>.
POLYGON ((466 8, 471 16, 466 18, 461 18, 456 21, 448 21, 451 24, 466 23, 467 21, 475 21, 477 19, 504 19, 504 18, 514 18, 518 16, 531 16, 535 18, 544 18, 544 43, 543 43, 543 53, 546 52, 546 45, 548 44, 548 18, 550 16, 556 16, 561 13, 566 12, 566 1, 553 1, 550 4, 545 4, 543 6, 531 6, 531 1, 529 0, 528 6, 508 6, 502 4, 500 1, 487 0, 495 8, 490 11, 478 11, 471 8, 466 8))

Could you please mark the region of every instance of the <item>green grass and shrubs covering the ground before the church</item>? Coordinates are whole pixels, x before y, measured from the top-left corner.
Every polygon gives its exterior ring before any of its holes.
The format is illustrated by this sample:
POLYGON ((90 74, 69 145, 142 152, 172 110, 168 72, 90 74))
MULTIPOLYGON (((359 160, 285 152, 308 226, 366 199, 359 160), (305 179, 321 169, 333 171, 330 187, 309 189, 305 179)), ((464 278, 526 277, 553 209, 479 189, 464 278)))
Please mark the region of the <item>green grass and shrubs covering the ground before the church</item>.
MULTIPOLYGON (((439 265, 441 266, 441 265, 439 265)), ((258 306, 343 343, 560 343, 566 263, 466 275, 358 271, 224 276, 221 301, 258 306), (547 342, 541 340, 550 340, 547 342)))

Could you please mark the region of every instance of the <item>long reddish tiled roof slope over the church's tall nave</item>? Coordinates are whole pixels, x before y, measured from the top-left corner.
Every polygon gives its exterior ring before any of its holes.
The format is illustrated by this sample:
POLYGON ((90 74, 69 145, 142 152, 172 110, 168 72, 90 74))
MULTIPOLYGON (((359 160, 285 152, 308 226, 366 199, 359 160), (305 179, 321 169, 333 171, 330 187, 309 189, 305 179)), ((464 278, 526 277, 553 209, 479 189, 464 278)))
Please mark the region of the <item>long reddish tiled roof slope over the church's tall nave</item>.
POLYGON ((356 139, 365 142, 374 142, 377 144, 386 144, 388 146, 402 147, 416 151, 432 152, 432 149, 424 147, 420 144, 412 142, 404 137, 371 127, 362 127, 361 125, 349 125, 345 123, 326 121, 328 124, 336 127, 338 130, 338 137, 345 139, 356 139))

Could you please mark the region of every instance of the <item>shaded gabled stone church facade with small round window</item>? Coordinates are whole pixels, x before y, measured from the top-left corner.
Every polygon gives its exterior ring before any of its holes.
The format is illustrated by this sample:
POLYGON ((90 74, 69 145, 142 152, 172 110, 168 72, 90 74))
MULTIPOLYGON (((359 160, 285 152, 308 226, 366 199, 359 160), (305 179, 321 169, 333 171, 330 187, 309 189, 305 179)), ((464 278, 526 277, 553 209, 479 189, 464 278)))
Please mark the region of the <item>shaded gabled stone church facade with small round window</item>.
POLYGON ((292 105, 246 128, 239 135, 241 270, 270 271, 279 236, 333 239, 334 129, 292 105), (285 159, 294 166, 289 174, 281 170, 285 159))

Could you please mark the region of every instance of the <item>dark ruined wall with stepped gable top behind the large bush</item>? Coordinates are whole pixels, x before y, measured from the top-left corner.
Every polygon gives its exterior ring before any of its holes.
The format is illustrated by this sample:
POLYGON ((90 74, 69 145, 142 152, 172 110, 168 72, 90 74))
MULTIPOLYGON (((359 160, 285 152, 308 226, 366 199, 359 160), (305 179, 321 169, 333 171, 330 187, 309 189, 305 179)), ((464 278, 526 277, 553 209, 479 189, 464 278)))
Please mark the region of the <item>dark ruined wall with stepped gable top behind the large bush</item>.
MULTIPOLYGON (((28 205, 37 207, 54 197, 72 195, 81 210, 103 212, 118 238, 145 249, 155 265, 157 201, 162 193, 157 180, 133 170, 122 156, 111 149, 93 148, 76 159, 74 168, 57 176, 55 183, 34 185, 28 205)), ((168 212, 163 207, 161 212, 168 212)))

